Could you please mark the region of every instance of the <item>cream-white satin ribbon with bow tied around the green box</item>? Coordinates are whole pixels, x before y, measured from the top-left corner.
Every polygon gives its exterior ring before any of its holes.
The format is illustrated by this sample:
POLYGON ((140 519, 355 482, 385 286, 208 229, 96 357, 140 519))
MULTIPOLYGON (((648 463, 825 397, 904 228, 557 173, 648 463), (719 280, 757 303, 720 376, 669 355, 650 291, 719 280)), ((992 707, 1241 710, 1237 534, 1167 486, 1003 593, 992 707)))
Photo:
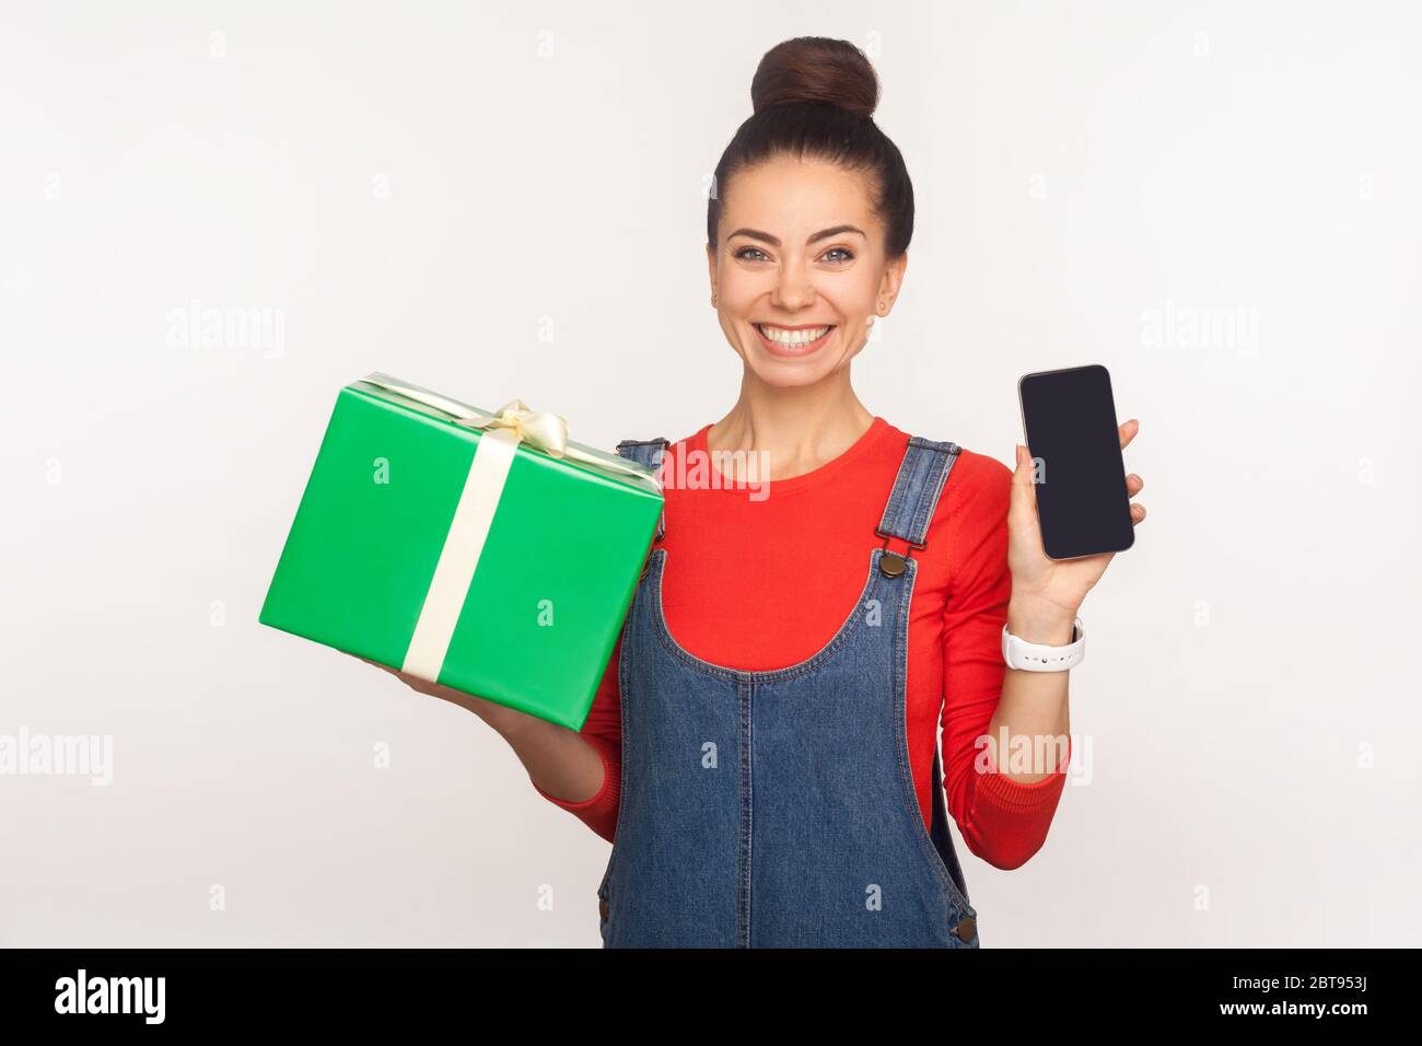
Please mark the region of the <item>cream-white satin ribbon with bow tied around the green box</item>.
POLYGON ((503 497, 503 485, 518 455, 519 443, 555 458, 566 458, 620 478, 650 482, 661 494, 661 481, 650 470, 629 458, 596 451, 570 443, 567 421, 557 414, 530 410, 522 400, 510 400, 498 413, 486 414, 439 393, 400 381, 388 374, 370 374, 363 381, 431 407, 451 420, 483 434, 474 450, 474 461, 464 481, 464 491, 454 511, 454 521, 445 535, 444 549, 435 564, 435 574, 425 593, 424 606, 415 622, 415 632, 405 650, 401 672, 438 682, 444 667, 455 625, 464 612, 464 602, 474 582, 474 572, 483 554, 493 515, 503 497))

